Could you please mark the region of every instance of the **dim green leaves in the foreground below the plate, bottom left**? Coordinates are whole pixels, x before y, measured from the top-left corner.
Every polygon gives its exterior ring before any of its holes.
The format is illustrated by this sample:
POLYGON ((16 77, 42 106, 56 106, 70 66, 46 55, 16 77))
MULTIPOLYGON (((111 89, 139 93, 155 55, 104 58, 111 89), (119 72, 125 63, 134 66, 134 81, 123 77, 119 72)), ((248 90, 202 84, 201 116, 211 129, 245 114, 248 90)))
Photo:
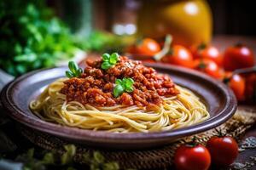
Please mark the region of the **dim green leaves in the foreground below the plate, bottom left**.
POLYGON ((54 151, 30 149, 26 153, 17 156, 15 161, 22 162, 23 170, 119 170, 119 164, 116 161, 106 161, 105 157, 98 151, 85 153, 83 162, 87 166, 79 165, 73 161, 76 155, 76 146, 73 144, 64 145, 64 153, 58 154, 54 151))

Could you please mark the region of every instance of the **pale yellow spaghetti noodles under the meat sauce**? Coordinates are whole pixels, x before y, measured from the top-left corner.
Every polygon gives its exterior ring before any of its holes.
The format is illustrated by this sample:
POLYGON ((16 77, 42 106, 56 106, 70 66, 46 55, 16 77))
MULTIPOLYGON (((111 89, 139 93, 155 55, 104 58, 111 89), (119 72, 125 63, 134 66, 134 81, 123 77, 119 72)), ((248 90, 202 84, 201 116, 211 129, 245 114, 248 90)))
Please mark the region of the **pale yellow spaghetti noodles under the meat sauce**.
POLYGON ((104 130, 112 133, 159 132, 188 127, 209 117, 206 106, 189 89, 176 86, 180 94, 163 97, 156 111, 137 105, 93 106, 67 102, 61 88, 67 78, 52 82, 30 108, 41 119, 68 127, 104 130))

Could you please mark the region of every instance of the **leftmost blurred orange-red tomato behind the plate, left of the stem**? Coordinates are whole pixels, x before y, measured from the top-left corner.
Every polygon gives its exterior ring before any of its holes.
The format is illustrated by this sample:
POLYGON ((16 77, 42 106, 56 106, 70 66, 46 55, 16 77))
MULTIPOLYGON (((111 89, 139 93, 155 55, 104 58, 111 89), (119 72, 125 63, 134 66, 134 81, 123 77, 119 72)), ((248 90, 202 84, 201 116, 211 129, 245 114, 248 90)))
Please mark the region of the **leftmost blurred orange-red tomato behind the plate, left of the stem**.
POLYGON ((138 42, 135 47, 131 47, 129 52, 131 54, 153 56, 160 52, 160 50, 160 44, 158 42, 151 38, 144 38, 141 42, 138 42))

